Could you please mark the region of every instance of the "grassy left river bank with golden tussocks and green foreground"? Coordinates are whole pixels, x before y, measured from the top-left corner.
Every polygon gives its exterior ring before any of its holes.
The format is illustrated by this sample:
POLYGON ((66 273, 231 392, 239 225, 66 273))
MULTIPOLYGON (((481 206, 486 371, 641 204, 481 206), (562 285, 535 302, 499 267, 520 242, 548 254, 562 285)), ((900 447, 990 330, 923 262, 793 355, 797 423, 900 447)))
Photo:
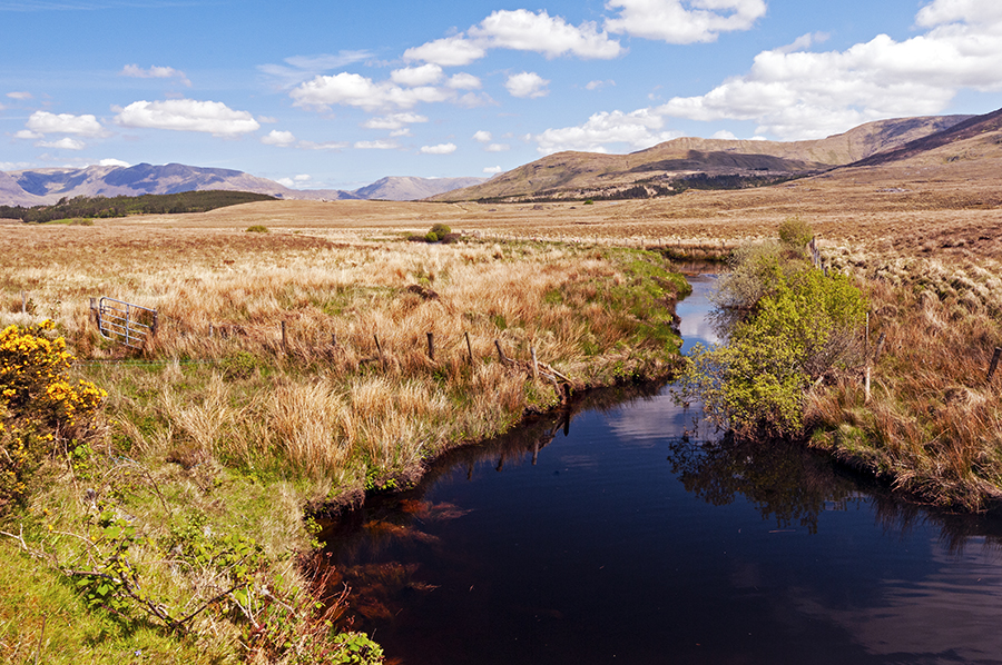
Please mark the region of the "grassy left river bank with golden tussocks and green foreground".
POLYGON ((305 508, 404 486, 566 386, 677 363, 687 285, 641 250, 128 221, 2 231, 0 322, 55 320, 70 375, 108 393, 72 436, 52 429, 8 506, 0 557, 32 580, 0 597, 10 662, 376 662, 342 621, 343 588, 312 605, 330 585, 301 556, 305 508), (136 354, 100 337, 95 296, 156 309, 156 339, 136 354))

